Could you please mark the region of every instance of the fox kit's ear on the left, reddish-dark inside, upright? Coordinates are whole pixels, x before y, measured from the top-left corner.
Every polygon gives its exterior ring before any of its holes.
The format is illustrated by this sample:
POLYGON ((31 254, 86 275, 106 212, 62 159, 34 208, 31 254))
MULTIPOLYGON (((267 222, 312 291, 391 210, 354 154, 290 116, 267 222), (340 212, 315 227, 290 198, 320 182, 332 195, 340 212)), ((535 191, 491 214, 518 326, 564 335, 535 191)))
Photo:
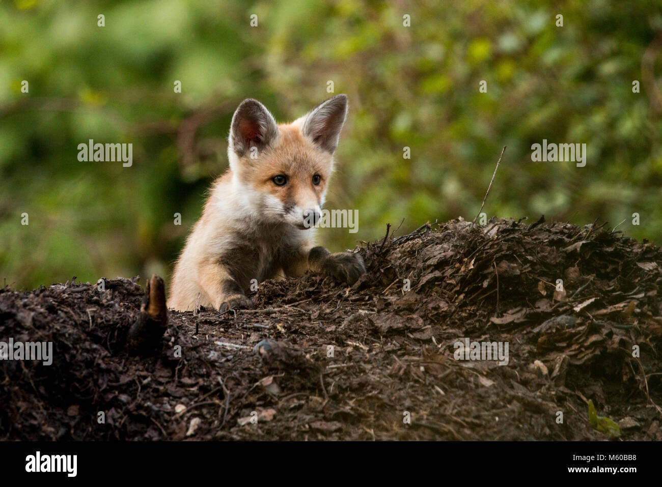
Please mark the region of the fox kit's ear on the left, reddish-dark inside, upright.
POLYGON ((239 157, 252 147, 269 146, 277 135, 276 121, 264 105, 252 98, 240 103, 230 124, 230 146, 239 157))

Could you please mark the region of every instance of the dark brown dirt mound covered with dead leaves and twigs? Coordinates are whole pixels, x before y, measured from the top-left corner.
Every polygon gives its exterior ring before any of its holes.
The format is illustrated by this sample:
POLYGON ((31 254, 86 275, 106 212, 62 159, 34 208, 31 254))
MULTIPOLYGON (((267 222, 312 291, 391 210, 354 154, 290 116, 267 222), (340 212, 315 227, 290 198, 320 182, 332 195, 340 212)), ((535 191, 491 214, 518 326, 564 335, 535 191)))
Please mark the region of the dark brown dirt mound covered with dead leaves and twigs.
POLYGON ((136 279, 1 290, 0 340, 54 358, 0 361, 0 437, 662 439, 659 248, 455 220, 357 251, 351 288, 307 275, 262 283, 257 310, 171 312, 142 357, 136 279))

